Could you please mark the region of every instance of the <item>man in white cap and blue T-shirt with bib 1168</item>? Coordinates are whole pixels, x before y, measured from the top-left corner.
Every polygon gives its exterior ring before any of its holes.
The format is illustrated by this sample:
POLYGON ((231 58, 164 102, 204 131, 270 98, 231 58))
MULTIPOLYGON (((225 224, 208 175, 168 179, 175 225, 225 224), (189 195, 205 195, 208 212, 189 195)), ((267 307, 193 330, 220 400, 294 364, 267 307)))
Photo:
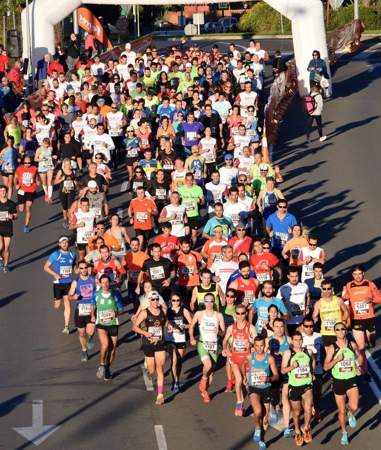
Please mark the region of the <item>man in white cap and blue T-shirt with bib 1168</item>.
MULTIPOLYGON (((1 191, 1 188, 0 188, 1 191)), ((65 326, 62 334, 69 334, 69 321, 71 315, 70 301, 67 297, 71 282, 73 281, 72 272, 76 270, 75 253, 69 250, 69 238, 61 236, 58 239, 59 250, 53 251, 45 262, 43 269, 53 277, 53 306, 59 309, 63 299, 63 317, 65 326)))

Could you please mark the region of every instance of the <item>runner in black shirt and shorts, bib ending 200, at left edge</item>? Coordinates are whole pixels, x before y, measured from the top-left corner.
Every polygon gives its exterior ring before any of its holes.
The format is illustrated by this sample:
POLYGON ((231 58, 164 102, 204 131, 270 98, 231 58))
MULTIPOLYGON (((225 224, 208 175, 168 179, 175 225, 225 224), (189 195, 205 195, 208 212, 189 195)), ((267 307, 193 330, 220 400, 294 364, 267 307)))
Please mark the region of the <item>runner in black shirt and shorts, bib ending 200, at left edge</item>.
POLYGON ((9 268, 10 240, 13 235, 13 220, 17 219, 16 204, 8 200, 8 188, 0 185, 0 269, 5 273, 9 268))

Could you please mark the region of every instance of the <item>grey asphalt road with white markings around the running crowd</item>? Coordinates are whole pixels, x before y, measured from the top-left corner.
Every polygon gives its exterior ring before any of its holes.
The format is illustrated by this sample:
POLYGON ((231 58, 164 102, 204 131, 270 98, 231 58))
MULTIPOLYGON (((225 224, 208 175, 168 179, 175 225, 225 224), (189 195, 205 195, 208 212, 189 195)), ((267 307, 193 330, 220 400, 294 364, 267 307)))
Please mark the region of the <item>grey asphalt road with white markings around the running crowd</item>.
MULTIPOLYGON (((263 48, 280 47, 280 41, 268 43, 264 41, 263 48)), ((207 42, 202 41, 204 45, 207 42)), ((334 67, 334 95, 325 102, 323 111, 327 140, 320 143, 315 130, 311 144, 305 143, 305 117, 295 100, 285 117, 275 153, 285 176, 281 188, 290 201, 290 209, 319 233, 327 253, 325 275, 334 279, 337 291, 349 280, 351 264, 358 261, 366 264, 369 278, 381 285, 380 66, 369 71, 373 64, 381 62, 381 51, 370 51, 365 59, 355 56, 343 57, 334 67)), ((271 74, 270 66, 267 67, 271 74)), ((119 171, 112 182, 110 206, 115 211, 122 204, 125 216, 127 198, 120 191, 123 180, 125 174, 119 171)), ((146 388, 140 340, 131 332, 129 307, 120 320, 113 380, 107 383, 96 378, 97 339, 89 361, 80 361, 76 330, 69 336, 61 334, 63 312, 53 309, 51 279, 42 270, 63 232, 56 190, 53 197, 54 204, 47 205, 39 192, 29 234, 22 232, 20 214, 14 223, 10 261, 13 270, 0 273, 0 446, 33 446, 12 428, 31 426, 32 401, 43 400, 43 424, 60 427, 40 444, 42 449, 155 449, 156 432, 160 436, 161 431, 166 441, 166 447, 159 445, 161 449, 254 448, 253 418, 235 417, 235 394, 224 392, 224 358, 219 361, 210 389, 212 401, 204 404, 197 386, 201 364, 196 349, 188 345, 180 380, 183 391, 171 395, 168 376, 164 386, 166 403, 154 405, 156 392, 146 388)), ((380 307, 376 306, 376 310, 380 329, 380 307)), ((381 367, 380 343, 371 353, 374 367, 381 367)), ((381 380, 373 370, 371 373, 375 377, 371 384, 360 379, 358 425, 355 430, 349 429, 352 448, 379 448, 381 380)), ((247 400, 246 406, 250 414, 247 400)), ((34 407, 37 424, 40 406, 34 407)), ((328 444, 338 449, 341 435, 327 382, 320 410, 323 421, 319 425, 313 422, 314 440, 310 447, 328 444)), ((285 440, 274 427, 269 427, 266 440, 271 448, 295 448, 294 441, 285 440)), ((162 442, 160 438, 159 441, 162 442)))

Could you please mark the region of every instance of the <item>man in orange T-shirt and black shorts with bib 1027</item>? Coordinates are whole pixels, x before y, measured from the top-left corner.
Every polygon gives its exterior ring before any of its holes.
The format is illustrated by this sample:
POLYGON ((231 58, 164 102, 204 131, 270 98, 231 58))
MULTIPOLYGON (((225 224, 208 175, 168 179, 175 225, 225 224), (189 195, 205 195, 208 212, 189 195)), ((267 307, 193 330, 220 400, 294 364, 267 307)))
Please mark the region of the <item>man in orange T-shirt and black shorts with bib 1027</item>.
POLYGON ((351 267, 353 280, 347 283, 344 300, 349 300, 353 336, 363 355, 364 378, 369 383, 372 375, 368 372, 368 360, 365 353, 365 338, 371 347, 376 346, 376 317, 373 303, 381 303, 381 293, 373 281, 365 278, 363 264, 351 267))

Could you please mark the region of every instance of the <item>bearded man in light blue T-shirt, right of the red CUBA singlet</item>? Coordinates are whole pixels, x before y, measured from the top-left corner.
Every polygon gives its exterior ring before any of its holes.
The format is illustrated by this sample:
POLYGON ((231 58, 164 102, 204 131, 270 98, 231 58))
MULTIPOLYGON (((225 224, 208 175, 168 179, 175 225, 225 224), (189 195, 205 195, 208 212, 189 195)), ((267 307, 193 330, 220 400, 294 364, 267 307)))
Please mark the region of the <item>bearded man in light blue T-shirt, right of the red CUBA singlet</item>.
POLYGON ((269 306, 275 304, 278 307, 279 312, 282 314, 284 320, 290 320, 290 314, 287 311, 285 304, 281 298, 274 297, 274 281, 267 280, 263 282, 262 285, 263 297, 256 298, 254 303, 249 309, 249 321, 253 320, 254 311, 257 310, 257 321, 255 327, 257 328, 258 334, 261 334, 262 328, 269 321, 269 306))

